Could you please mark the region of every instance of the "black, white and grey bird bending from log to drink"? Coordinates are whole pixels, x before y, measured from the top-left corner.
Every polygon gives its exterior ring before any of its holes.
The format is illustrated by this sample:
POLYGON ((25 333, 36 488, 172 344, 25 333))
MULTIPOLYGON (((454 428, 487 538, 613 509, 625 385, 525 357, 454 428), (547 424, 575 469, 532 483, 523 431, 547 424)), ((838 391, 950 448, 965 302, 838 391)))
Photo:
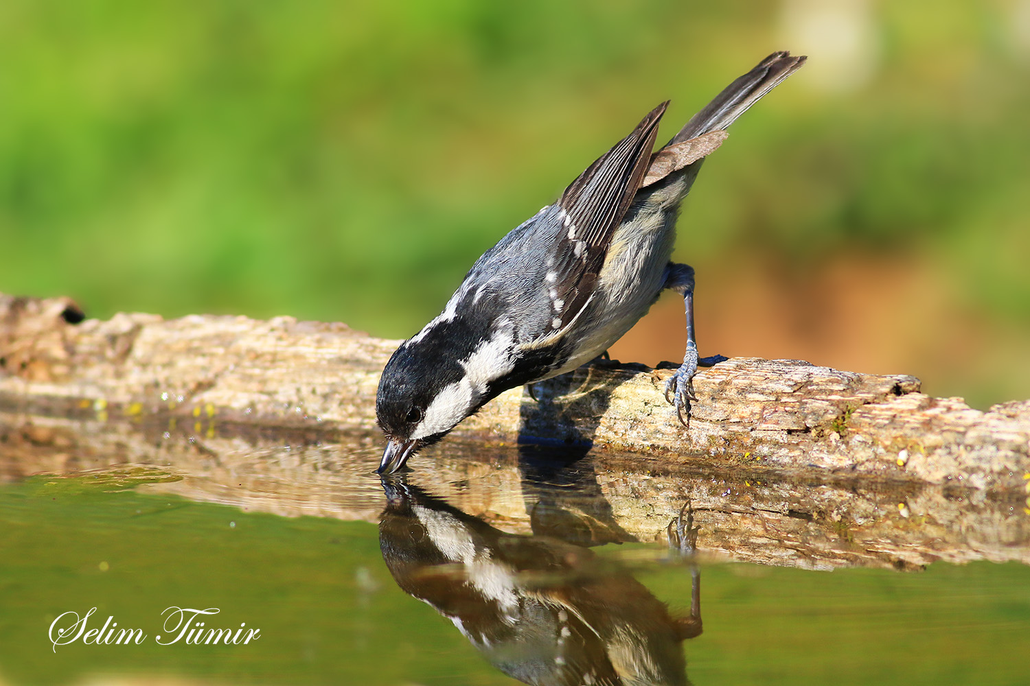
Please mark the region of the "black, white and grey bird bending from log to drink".
POLYGON ((665 289, 683 297, 686 313, 686 354, 665 386, 686 425, 697 365, 726 358, 697 355, 694 270, 671 260, 680 203, 726 128, 805 60, 768 56, 652 153, 668 101, 659 104, 477 259, 443 312, 383 368, 376 419, 387 445, 377 472, 401 469, 502 392, 596 358, 665 289))

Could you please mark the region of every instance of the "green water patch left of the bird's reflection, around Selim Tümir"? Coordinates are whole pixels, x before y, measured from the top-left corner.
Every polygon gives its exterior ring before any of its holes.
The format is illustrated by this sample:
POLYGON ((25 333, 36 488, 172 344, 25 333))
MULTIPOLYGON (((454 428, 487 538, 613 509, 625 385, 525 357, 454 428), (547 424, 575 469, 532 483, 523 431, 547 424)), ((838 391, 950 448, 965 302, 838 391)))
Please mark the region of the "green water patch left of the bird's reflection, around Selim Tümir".
POLYGON ((469 674, 469 683, 503 682, 460 635, 397 589, 375 526, 247 514, 121 488, 92 476, 0 486, 3 679, 64 684, 113 672, 391 684, 469 674), (154 636, 170 606, 218 608, 209 625, 246 622, 261 636, 249 645, 161 646, 154 636), (110 615, 147 639, 55 652, 54 619, 92 607, 99 621, 91 627, 110 615), (462 654, 467 666, 455 667, 462 654))

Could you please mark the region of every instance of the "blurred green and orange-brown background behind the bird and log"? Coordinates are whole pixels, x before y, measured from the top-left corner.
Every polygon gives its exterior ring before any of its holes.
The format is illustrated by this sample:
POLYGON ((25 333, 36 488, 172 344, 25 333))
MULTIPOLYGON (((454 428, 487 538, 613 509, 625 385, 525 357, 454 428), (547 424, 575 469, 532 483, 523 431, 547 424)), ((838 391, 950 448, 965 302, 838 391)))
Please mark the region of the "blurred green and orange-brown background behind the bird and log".
MULTIPOLYGON (((415 332, 774 49, 680 224, 702 354, 1030 397, 1030 1, 0 3, 0 291, 415 332)), ((682 355, 662 301, 620 348, 682 355)))

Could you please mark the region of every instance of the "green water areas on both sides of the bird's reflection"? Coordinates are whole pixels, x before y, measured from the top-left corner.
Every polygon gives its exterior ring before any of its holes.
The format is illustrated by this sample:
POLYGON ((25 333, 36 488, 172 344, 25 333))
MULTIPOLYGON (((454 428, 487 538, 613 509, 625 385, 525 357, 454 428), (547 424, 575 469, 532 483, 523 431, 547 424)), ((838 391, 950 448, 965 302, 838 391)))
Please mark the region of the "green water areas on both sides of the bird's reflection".
MULTIPOLYGON (((376 527, 285 518, 132 489, 160 471, 0 485, 0 678, 67 684, 136 674, 215 683, 507 684, 383 566, 376 527), (218 608, 209 626, 260 628, 249 645, 161 646, 167 607, 218 608), (140 645, 57 646, 63 612, 96 607, 140 645)), ((639 561, 625 545, 603 555, 639 561), (630 553, 627 555, 627 553, 630 553)), ((646 555, 645 555, 646 557, 646 555)), ((689 605, 684 568, 638 578, 689 605)), ((685 644, 696 684, 1024 684, 1030 568, 922 573, 706 565, 705 633, 685 644)), ((91 620, 92 621, 92 620, 91 620)))

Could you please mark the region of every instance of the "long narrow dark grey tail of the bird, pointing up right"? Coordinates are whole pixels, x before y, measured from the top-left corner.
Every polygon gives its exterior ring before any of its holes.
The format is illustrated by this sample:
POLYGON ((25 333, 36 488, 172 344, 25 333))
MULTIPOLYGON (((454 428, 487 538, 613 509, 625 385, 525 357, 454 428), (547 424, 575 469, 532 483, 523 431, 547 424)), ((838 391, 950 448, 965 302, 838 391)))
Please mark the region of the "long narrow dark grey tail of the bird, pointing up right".
POLYGON ((800 69, 805 60, 804 56, 794 57, 787 51, 768 56, 754 69, 727 85, 715 100, 692 116, 668 145, 726 129, 780 81, 800 69))

